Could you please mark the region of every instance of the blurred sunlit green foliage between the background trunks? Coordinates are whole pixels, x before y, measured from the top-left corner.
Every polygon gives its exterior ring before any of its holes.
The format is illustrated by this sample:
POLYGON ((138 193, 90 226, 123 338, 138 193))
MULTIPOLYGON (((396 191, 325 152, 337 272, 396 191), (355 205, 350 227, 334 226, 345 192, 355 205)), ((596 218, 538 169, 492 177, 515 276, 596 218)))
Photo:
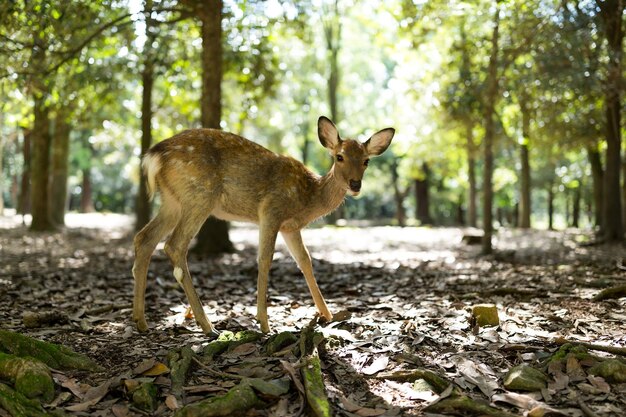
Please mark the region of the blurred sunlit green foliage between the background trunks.
MULTIPOLYGON (((223 127, 305 160, 317 172, 330 166, 318 145, 316 120, 330 111, 324 27, 334 4, 249 0, 224 7, 223 127)), ((431 211, 441 224, 455 222, 467 205, 469 154, 476 157, 480 191, 493 4, 337 3, 339 130, 366 140, 375 129, 397 128, 390 152, 372 161, 364 195, 347 202, 348 217, 394 216, 396 165, 400 190, 424 179, 422 167, 429 167, 431 211)), ((519 200, 520 144, 530 149, 535 189, 581 186, 588 198, 584 149, 603 146, 607 61, 596 5, 510 0, 499 7, 495 205, 513 210, 519 200)), ((9 190, 24 168, 17 127, 32 126, 33 91, 44 92, 53 116, 62 109, 71 122, 72 201, 81 192, 83 170, 90 169, 100 210, 132 212, 140 74, 147 59, 155 63, 155 139, 199 125, 199 25, 187 3, 154 0, 153 29, 145 33, 141 8, 122 0, 9 2, 0 16, 0 134, 10 138, 1 178, 9 206, 15 205, 9 190)), ((543 198, 535 193, 535 214, 545 213, 543 198)), ((409 212, 414 204, 406 200, 409 212)))

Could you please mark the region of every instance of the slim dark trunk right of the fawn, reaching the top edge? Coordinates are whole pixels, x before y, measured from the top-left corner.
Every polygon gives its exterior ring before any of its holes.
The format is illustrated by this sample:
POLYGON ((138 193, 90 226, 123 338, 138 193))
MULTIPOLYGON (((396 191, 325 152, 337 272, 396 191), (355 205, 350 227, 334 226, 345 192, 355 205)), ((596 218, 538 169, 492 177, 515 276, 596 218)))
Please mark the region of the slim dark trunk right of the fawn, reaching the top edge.
POLYGON ((491 55, 487 73, 487 94, 484 113, 483 254, 493 252, 491 243, 493 235, 493 142, 495 136, 494 111, 498 97, 498 39, 500 30, 500 8, 497 3, 493 20, 494 27, 491 37, 491 55))

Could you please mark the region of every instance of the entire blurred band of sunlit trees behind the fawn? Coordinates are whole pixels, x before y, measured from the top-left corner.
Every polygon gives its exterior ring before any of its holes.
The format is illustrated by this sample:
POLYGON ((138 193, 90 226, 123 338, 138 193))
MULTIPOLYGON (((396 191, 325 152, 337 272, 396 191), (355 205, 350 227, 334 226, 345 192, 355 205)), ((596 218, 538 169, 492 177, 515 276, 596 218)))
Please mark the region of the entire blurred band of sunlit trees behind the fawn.
MULTIPOLYGON (((322 172, 325 114, 397 129, 341 218, 478 226, 485 252, 501 226, 623 239, 622 0, 2 3, 0 210, 34 230, 67 210, 144 225, 140 157, 186 128, 322 172)), ((206 229, 200 250, 232 247, 206 229)))

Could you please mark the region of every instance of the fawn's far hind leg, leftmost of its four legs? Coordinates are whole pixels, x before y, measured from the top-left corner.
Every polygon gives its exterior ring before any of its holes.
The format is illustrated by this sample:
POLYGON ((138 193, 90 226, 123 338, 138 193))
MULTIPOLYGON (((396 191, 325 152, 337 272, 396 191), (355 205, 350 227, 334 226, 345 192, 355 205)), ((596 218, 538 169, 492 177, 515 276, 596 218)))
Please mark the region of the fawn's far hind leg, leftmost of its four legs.
POLYGON ((158 243, 172 231, 180 218, 180 206, 170 201, 167 194, 162 195, 163 204, 159 213, 139 233, 135 235, 135 262, 133 278, 135 281, 133 297, 133 321, 140 332, 148 330, 145 317, 146 280, 150 258, 158 243))

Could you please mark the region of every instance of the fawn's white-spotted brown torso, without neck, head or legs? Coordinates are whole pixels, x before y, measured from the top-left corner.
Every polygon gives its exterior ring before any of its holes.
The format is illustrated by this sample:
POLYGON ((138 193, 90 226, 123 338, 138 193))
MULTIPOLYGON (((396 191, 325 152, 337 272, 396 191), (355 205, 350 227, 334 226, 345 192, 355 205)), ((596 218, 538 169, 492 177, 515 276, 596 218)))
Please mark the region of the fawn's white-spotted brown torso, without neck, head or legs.
MULTIPOLYGON (((295 159, 277 155, 241 136, 215 129, 192 129, 156 144, 157 181, 181 200, 215 204, 226 220, 258 222, 259 206, 271 205, 289 218, 310 204, 316 175, 295 159)), ((183 206, 185 205, 182 203, 183 206)))

